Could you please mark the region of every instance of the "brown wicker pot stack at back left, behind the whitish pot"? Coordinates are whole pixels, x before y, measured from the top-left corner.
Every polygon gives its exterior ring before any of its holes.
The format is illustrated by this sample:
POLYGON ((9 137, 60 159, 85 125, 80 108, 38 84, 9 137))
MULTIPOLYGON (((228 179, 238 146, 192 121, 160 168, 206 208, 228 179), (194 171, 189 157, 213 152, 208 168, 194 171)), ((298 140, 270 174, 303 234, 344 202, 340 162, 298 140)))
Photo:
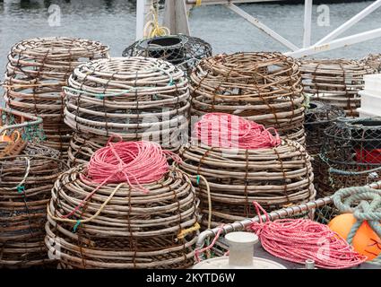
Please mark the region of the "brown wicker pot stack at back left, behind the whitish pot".
POLYGON ((4 101, 43 118, 46 145, 67 152, 71 129, 64 123, 62 87, 74 68, 108 57, 108 46, 88 39, 38 38, 13 46, 5 72, 4 101))

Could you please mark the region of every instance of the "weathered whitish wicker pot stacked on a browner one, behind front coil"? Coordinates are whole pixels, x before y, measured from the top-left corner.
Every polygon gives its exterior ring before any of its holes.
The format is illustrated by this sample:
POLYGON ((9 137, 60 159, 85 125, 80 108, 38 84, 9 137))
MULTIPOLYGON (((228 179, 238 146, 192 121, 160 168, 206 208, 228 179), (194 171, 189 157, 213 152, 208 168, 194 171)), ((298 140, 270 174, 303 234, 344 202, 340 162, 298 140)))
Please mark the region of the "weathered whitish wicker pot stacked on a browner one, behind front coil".
POLYGON ((77 133, 70 163, 90 160, 110 135, 177 151, 188 137, 189 91, 184 72, 144 57, 101 59, 74 70, 65 88, 65 123, 77 133))

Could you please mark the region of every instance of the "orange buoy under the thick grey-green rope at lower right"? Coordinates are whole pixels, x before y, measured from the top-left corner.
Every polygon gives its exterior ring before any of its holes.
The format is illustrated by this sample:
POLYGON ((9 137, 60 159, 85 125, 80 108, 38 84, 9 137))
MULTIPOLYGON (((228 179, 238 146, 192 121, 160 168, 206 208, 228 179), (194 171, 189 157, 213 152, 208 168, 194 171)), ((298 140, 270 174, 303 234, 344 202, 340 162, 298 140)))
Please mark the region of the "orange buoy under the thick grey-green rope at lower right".
MULTIPOLYGON (((343 239, 347 239, 355 222, 356 218, 352 213, 344 213, 333 218, 328 226, 343 239)), ((368 257, 368 261, 373 260, 381 253, 381 239, 366 221, 357 230, 352 240, 352 246, 359 254, 368 257)))

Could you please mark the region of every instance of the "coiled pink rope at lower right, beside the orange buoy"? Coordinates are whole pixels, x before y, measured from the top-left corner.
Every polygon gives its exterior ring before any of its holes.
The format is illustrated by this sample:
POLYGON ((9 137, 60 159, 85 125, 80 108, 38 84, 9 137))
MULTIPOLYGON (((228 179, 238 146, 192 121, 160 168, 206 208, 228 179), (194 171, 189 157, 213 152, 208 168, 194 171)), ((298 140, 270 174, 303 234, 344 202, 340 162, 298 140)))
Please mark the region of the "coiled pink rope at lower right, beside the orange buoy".
POLYGON ((328 226, 306 219, 283 219, 270 221, 262 206, 255 204, 266 222, 254 222, 249 229, 255 231, 264 249, 274 257, 304 264, 307 259, 315 260, 316 266, 327 269, 349 268, 366 261, 353 247, 328 226))

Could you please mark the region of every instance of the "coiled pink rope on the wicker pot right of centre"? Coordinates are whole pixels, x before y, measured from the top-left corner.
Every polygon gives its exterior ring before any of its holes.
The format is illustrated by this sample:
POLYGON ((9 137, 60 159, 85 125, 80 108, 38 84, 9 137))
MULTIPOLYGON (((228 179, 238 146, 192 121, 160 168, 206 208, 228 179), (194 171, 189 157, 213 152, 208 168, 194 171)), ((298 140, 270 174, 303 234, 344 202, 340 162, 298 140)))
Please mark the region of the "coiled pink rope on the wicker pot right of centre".
POLYGON ((213 147, 261 149, 281 143, 281 138, 273 127, 266 129, 243 117, 224 113, 203 115, 195 123, 194 133, 202 143, 213 147))

